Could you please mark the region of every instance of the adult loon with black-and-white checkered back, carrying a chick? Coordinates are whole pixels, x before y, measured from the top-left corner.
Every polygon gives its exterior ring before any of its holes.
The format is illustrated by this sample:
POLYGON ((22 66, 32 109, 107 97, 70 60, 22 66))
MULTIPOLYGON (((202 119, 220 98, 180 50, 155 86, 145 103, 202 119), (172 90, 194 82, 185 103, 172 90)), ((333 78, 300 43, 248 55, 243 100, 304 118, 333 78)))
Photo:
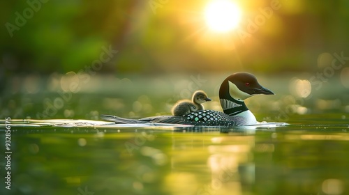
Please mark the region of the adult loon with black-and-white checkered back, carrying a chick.
POLYGON ((202 126, 254 125, 257 123, 257 120, 246 107, 244 100, 257 94, 274 95, 272 91, 261 86, 254 75, 248 72, 237 72, 227 77, 219 88, 219 99, 223 112, 202 110, 194 111, 184 116, 152 116, 140 119, 101 115, 101 119, 113 121, 117 124, 170 123, 202 126))

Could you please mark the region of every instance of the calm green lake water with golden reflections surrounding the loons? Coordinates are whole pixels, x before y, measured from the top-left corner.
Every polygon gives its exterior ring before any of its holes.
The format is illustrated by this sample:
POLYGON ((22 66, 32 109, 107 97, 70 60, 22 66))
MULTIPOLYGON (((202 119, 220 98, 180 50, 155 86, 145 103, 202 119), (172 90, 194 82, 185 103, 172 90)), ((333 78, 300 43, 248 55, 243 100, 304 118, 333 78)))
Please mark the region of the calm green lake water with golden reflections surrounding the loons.
MULTIPOLYGON (((221 109, 216 94, 225 76, 201 76, 207 83, 200 89, 213 99, 207 109, 221 109)), ((338 79, 297 98, 289 87, 292 76, 258 77, 276 95, 258 95, 246 104, 259 121, 290 124, 278 127, 50 120, 169 114, 180 94, 191 89, 189 77, 129 78, 98 78, 66 99, 57 89, 31 86, 29 93, 9 85, 0 105, 0 194, 349 194, 348 90, 329 86, 338 79), (58 107, 50 109, 51 103, 58 107), (10 134, 6 117, 19 119, 10 120, 17 123, 10 134), (69 125, 72 121, 80 122, 69 125)))

